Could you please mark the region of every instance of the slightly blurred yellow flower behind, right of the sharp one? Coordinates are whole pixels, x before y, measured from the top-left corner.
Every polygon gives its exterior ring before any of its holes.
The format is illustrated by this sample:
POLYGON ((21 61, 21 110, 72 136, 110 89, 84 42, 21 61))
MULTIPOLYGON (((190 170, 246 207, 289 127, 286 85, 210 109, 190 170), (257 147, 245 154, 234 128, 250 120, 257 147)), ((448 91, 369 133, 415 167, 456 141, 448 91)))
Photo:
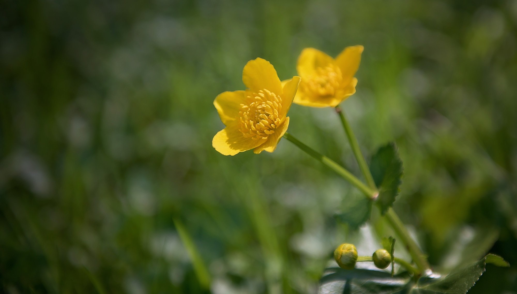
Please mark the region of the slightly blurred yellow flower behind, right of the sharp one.
POLYGON ((363 49, 361 45, 347 47, 336 59, 314 48, 303 49, 296 65, 301 83, 294 103, 336 107, 354 94, 357 85, 354 75, 363 49))

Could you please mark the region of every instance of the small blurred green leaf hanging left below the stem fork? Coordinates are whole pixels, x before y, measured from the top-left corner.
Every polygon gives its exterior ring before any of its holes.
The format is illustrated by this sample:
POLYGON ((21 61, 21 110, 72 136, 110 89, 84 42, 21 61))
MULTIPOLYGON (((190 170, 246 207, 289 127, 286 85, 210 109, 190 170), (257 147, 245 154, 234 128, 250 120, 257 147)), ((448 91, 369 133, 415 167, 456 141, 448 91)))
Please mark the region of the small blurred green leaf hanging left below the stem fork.
POLYGON ((343 200, 343 211, 334 215, 338 222, 345 223, 352 230, 357 230, 370 219, 372 200, 356 190, 348 193, 343 200))

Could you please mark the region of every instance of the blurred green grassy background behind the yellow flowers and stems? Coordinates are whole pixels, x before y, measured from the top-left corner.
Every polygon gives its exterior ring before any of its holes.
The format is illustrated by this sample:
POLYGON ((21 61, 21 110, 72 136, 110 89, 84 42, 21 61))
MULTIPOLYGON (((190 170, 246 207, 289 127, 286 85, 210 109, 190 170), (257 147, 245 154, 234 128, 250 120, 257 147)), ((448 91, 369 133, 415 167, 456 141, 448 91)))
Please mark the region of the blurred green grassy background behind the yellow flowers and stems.
MULTIPOLYGON (((367 160, 399 146, 396 210, 436 267, 475 238, 510 262, 470 292, 517 293, 517 1, 0 7, 0 292, 315 293, 353 189, 286 140, 222 156, 212 101, 250 59, 362 44, 341 106, 367 160)), ((290 116, 360 175, 332 109, 290 116)))

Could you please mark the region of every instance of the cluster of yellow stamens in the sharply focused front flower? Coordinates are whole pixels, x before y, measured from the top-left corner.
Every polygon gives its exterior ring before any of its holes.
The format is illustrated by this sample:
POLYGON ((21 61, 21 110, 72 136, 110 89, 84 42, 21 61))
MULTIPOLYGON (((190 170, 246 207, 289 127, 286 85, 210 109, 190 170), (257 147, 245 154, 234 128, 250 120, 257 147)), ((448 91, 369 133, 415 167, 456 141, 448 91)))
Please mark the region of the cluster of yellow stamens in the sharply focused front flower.
POLYGON ((265 140, 275 133, 282 122, 279 113, 282 99, 275 93, 263 89, 258 93, 250 92, 246 104, 240 104, 240 132, 245 138, 265 140))

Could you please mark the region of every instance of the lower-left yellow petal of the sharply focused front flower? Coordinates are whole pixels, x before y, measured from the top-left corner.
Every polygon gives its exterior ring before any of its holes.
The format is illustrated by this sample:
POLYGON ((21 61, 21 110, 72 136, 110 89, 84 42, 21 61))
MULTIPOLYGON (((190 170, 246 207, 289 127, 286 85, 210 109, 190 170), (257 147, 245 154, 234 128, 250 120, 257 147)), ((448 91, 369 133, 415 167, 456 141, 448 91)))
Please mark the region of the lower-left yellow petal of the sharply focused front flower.
POLYGON ((223 155, 235 155, 253 149, 265 142, 264 139, 245 138, 238 129, 238 122, 232 122, 214 136, 212 146, 223 155))

